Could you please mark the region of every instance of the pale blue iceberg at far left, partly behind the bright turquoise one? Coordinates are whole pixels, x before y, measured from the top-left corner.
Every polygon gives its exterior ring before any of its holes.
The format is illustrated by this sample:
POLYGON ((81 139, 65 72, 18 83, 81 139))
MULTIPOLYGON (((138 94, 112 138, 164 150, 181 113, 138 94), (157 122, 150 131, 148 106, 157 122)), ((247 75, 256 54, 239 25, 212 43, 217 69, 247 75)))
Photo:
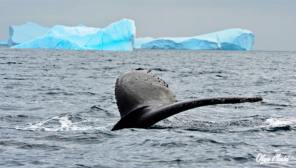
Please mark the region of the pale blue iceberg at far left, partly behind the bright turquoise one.
POLYGON ((25 25, 9 26, 8 45, 18 45, 42 37, 50 28, 42 27, 36 23, 27 22, 25 25))

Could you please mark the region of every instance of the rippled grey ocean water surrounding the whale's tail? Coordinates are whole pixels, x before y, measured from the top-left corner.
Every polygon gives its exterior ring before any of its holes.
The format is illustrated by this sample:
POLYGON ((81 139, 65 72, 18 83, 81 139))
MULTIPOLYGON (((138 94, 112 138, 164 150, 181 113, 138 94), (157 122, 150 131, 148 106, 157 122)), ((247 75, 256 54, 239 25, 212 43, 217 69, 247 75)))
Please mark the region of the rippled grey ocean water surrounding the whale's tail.
POLYGON ((295 52, 0 47, 0 80, 1 167, 296 165, 295 52), (199 107, 147 130, 112 132, 120 119, 116 79, 140 67, 165 80, 177 100, 263 101, 199 107), (286 160, 260 164, 260 154, 286 160))

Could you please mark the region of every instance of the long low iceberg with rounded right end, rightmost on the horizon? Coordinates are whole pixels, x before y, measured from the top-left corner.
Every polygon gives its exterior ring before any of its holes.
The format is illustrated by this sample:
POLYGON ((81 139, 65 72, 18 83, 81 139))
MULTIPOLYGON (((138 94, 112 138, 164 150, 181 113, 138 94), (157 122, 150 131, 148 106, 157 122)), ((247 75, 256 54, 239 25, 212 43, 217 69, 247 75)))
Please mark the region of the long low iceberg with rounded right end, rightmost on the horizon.
POLYGON ((189 50, 251 50, 254 34, 249 30, 227 29, 194 37, 151 37, 136 39, 135 48, 189 50))

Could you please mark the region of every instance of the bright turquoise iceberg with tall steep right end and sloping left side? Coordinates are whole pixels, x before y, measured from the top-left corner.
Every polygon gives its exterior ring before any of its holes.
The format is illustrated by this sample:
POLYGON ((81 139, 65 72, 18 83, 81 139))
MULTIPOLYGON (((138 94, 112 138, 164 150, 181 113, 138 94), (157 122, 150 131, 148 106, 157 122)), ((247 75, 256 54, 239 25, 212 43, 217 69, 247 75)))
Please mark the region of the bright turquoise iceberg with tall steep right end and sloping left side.
POLYGON ((122 19, 104 29, 83 25, 77 27, 56 25, 44 36, 11 48, 132 51, 135 36, 136 27, 131 19, 122 19))

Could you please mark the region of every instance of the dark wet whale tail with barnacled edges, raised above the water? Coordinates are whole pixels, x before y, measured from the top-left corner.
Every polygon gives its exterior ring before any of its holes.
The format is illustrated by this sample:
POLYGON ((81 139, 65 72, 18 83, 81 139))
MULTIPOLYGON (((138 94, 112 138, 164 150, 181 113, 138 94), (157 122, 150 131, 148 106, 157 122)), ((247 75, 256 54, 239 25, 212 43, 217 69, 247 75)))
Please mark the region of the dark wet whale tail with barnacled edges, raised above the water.
POLYGON ((218 96, 178 102, 168 84, 150 71, 138 68, 121 74, 117 79, 115 99, 120 120, 111 131, 148 129, 160 120, 196 107, 263 100, 262 97, 218 96))

